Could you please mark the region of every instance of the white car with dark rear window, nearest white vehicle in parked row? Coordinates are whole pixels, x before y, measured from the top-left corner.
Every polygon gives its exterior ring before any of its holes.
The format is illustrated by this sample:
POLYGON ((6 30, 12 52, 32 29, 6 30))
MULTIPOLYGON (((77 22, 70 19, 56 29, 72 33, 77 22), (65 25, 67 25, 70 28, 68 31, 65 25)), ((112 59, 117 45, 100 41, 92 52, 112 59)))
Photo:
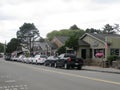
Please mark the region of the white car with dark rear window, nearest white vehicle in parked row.
POLYGON ((32 61, 34 64, 44 64, 46 59, 47 59, 46 55, 35 55, 35 57, 32 58, 32 61))

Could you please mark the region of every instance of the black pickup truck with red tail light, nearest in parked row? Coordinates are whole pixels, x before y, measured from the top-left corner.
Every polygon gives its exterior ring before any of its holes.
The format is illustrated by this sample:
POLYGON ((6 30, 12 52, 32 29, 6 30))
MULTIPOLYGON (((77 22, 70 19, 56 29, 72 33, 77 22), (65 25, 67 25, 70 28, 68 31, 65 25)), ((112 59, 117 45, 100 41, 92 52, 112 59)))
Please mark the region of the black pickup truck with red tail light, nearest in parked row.
POLYGON ((61 54, 58 56, 58 60, 55 62, 54 65, 57 67, 62 67, 65 69, 69 68, 77 68, 81 69, 83 66, 83 59, 77 58, 75 54, 61 54))

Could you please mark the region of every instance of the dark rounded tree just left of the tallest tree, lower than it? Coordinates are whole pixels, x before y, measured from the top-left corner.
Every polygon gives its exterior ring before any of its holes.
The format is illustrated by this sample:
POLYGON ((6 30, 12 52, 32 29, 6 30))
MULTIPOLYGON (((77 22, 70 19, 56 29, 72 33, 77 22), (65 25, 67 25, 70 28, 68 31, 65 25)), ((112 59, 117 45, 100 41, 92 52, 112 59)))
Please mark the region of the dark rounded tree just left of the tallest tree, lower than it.
POLYGON ((7 44, 6 53, 12 53, 13 51, 20 50, 20 41, 16 38, 12 38, 7 44))

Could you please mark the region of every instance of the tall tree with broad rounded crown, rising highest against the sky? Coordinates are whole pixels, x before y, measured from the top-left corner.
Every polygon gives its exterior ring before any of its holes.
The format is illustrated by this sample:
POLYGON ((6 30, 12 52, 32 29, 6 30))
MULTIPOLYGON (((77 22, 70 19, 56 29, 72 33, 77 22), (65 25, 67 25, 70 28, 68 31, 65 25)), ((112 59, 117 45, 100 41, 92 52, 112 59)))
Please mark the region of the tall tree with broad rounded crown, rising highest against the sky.
POLYGON ((39 30, 33 23, 24 23, 16 34, 22 45, 31 51, 31 42, 39 37, 39 30))

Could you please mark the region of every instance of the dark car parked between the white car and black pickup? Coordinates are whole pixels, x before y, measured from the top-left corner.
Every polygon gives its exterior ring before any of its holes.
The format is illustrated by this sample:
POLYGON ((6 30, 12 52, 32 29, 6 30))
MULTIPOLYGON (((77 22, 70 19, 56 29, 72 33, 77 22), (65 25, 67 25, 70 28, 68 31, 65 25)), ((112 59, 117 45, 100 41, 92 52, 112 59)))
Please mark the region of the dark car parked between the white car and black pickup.
POLYGON ((56 62, 56 60, 58 60, 58 57, 56 57, 56 56, 49 56, 47 58, 47 60, 45 61, 44 65, 53 67, 55 62, 56 62))

